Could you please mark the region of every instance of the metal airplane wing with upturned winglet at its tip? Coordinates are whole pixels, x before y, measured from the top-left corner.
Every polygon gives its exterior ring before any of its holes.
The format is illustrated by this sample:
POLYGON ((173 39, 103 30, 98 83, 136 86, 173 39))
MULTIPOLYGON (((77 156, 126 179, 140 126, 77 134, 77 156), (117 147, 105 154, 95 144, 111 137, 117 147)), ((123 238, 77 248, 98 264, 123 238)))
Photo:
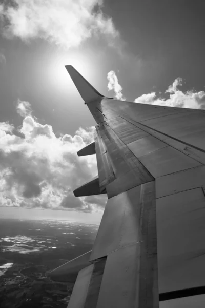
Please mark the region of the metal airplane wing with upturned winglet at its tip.
POLYGON ((78 155, 98 178, 74 194, 108 196, 68 307, 204 307, 205 111, 107 98, 66 69, 97 123, 78 155))

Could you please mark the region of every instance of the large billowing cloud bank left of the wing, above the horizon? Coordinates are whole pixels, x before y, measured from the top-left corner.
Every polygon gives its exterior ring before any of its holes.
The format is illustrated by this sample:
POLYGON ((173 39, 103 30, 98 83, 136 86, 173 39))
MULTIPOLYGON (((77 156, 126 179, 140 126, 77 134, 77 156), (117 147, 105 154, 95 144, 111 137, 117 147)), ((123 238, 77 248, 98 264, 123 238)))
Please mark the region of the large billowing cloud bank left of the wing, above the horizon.
POLYGON ((85 212, 101 209, 100 198, 75 198, 72 192, 97 173, 95 155, 76 154, 93 141, 93 130, 79 128, 74 136, 56 137, 52 126, 38 123, 30 114, 23 119, 19 137, 12 133, 12 125, 0 123, 1 205, 85 212))

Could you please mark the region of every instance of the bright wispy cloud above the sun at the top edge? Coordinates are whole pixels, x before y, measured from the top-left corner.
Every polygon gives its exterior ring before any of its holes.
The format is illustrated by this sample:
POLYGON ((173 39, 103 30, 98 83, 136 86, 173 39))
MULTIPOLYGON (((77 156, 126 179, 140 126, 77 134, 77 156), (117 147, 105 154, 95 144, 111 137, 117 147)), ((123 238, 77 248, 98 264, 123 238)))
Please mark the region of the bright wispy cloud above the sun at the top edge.
POLYGON ((103 0, 13 0, 0 6, 0 18, 7 38, 43 38, 70 48, 92 35, 118 36, 102 7, 103 0))

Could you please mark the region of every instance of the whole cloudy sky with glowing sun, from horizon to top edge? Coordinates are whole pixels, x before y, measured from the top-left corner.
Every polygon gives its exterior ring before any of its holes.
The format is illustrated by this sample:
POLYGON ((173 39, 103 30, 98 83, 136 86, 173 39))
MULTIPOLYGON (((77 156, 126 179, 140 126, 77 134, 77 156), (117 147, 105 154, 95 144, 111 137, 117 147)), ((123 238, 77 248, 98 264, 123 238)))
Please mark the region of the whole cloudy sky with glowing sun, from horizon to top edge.
POLYGON ((46 0, 0 4, 0 216, 99 223, 92 115, 65 65, 100 93, 204 108, 204 1, 46 0), (80 128, 81 127, 81 128, 80 128))

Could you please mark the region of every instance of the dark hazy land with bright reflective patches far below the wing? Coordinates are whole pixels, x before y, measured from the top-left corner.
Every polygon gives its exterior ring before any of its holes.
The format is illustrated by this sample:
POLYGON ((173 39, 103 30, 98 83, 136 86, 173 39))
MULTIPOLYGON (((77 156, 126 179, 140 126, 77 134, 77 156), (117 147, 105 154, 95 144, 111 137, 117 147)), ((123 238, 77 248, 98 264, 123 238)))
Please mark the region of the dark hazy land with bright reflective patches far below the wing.
POLYGON ((1 308, 67 307, 73 284, 48 272, 89 251, 97 225, 54 220, 0 220, 1 308))

